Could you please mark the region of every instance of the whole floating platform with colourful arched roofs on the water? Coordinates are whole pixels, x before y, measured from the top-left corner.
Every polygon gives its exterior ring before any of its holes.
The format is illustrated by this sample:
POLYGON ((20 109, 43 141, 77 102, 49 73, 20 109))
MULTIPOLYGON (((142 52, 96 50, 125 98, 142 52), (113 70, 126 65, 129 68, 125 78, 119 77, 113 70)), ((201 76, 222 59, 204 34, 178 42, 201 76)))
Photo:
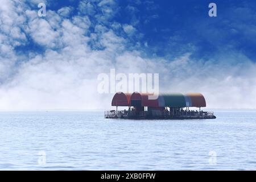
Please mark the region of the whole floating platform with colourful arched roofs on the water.
POLYGON ((115 110, 105 111, 105 118, 123 119, 215 119, 213 112, 203 111, 206 107, 203 94, 200 93, 162 93, 157 99, 152 94, 134 92, 115 93, 112 106, 115 110), (118 110, 118 107, 127 109, 118 110), (197 107, 191 110, 189 107, 197 107), (197 110, 198 109, 198 110, 197 110))

